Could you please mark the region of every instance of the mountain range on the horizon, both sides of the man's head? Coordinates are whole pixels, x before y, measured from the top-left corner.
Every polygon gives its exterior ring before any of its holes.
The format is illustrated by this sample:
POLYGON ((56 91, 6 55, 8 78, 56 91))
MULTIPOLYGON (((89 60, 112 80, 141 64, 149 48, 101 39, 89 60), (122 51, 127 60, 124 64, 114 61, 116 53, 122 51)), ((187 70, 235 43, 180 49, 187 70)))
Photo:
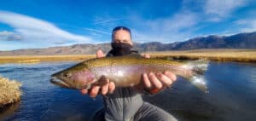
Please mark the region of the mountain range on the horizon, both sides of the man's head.
MULTIPOLYGON (((89 55, 96 54, 97 49, 102 49, 103 52, 107 53, 111 46, 110 43, 80 43, 46 49, 0 51, 0 55, 89 55)), ((139 52, 189 49, 256 49, 256 32, 239 33, 231 36, 195 37, 175 43, 135 43, 133 49, 137 49, 139 52)))

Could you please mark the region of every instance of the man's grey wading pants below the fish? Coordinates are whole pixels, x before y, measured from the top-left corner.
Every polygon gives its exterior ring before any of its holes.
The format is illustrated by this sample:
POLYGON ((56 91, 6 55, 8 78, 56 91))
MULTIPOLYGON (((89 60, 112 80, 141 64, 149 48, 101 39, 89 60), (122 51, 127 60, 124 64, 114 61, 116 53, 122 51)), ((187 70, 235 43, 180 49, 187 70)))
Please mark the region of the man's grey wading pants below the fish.
POLYGON ((105 107, 96 112, 93 121, 176 121, 170 113, 144 102, 133 88, 115 89, 104 96, 105 107))

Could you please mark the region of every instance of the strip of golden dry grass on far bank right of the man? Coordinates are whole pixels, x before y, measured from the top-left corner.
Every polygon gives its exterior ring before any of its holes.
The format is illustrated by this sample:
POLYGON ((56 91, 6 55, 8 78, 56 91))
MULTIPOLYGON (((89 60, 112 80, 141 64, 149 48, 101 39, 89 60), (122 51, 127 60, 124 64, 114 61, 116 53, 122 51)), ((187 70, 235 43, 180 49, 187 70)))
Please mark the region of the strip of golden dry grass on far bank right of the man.
POLYGON ((174 60, 218 60, 256 62, 256 49, 196 49, 186 51, 146 52, 151 57, 174 60))

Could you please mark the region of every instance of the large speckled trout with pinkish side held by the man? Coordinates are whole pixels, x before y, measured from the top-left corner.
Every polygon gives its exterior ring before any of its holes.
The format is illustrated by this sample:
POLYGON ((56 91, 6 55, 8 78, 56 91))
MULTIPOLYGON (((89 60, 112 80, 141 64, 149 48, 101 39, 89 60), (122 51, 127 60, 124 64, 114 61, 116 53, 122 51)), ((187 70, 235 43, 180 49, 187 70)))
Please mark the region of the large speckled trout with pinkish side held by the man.
POLYGON ((108 78, 116 87, 133 87, 141 83, 144 72, 165 72, 185 78, 198 89, 207 92, 203 78, 207 60, 179 62, 140 55, 124 55, 84 60, 51 75, 50 82, 67 89, 91 89, 93 85, 106 84, 108 78))

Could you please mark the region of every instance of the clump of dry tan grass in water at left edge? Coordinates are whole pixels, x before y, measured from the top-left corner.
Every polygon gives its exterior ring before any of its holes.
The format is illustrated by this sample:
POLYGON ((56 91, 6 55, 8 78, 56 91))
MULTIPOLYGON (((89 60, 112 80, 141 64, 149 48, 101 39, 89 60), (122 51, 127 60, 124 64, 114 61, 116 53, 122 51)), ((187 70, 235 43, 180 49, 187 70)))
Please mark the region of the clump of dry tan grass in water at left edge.
POLYGON ((20 101, 21 84, 0 76, 0 107, 20 101))

